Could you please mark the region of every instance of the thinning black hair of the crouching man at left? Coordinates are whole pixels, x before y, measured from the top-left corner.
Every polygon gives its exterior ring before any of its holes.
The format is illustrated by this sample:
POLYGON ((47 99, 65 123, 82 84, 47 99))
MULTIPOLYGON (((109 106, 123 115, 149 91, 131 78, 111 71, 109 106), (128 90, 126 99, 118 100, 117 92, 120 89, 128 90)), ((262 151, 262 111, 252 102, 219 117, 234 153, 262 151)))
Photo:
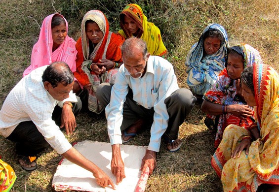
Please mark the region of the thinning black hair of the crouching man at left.
POLYGON ((58 83, 67 86, 74 81, 74 74, 65 62, 54 62, 46 67, 42 74, 42 82, 49 82, 53 88, 58 83))

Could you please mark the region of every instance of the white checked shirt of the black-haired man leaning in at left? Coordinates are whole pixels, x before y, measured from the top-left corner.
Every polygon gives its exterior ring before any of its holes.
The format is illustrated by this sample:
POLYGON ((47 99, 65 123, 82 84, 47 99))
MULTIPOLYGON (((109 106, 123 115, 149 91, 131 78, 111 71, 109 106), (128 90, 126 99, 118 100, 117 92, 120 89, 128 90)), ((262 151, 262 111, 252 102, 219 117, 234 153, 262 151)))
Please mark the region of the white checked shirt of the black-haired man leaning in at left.
POLYGON ((50 146, 63 154, 72 145, 52 120, 52 112, 56 104, 62 107, 66 100, 77 102, 77 98, 71 91, 69 98, 57 101, 44 89, 41 76, 47 66, 33 70, 11 90, 0 110, 0 134, 8 137, 19 123, 33 121, 50 146))

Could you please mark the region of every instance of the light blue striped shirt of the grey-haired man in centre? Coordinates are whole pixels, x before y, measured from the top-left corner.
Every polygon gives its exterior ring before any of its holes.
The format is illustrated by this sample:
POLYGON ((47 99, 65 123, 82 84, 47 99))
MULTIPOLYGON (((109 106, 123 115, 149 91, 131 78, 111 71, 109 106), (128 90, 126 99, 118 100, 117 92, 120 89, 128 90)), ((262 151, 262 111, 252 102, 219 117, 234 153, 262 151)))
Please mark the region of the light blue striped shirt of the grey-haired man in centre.
POLYGON ((164 100, 178 90, 177 79, 172 65, 158 56, 150 56, 146 73, 134 79, 122 64, 112 87, 111 102, 106 107, 108 133, 111 144, 121 144, 122 111, 129 88, 133 91, 133 100, 139 105, 151 109, 154 107, 154 120, 148 149, 159 152, 161 136, 168 123, 168 113, 164 100))

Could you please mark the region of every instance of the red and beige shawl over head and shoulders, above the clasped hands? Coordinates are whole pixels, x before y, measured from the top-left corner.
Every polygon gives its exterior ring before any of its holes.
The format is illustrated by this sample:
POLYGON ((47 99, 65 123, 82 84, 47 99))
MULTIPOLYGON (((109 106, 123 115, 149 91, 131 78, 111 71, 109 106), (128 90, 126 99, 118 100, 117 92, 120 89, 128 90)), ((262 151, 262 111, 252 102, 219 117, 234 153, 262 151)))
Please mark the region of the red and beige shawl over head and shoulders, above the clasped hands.
POLYGON ((81 37, 77 41, 77 71, 74 73, 82 86, 92 84, 95 75, 93 71, 87 69, 88 62, 97 63, 100 59, 108 59, 114 62, 122 62, 120 46, 124 38, 113 32, 109 32, 109 23, 106 16, 99 10, 88 11, 81 22, 81 37), (96 22, 103 32, 102 40, 95 46, 93 52, 89 55, 89 39, 85 32, 85 22, 92 20, 96 22), (85 63, 84 63, 85 62, 85 63), (92 77, 92 78, 91 78, 92 77), (90 80, 89 80, 90 79, 90 80))

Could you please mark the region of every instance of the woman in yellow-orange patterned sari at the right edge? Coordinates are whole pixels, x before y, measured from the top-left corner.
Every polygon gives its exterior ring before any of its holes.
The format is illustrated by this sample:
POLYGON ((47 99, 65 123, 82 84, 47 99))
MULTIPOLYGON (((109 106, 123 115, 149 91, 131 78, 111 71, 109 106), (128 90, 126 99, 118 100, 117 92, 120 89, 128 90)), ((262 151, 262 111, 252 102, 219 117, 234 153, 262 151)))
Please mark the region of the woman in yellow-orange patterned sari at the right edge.
POLYGON ((271 66, 254 65, 243 70, 241 84, 257 123, 227 127, 211 164, 225 192, 256 192, 262 184, 279 192, 279 75, 271 66))

